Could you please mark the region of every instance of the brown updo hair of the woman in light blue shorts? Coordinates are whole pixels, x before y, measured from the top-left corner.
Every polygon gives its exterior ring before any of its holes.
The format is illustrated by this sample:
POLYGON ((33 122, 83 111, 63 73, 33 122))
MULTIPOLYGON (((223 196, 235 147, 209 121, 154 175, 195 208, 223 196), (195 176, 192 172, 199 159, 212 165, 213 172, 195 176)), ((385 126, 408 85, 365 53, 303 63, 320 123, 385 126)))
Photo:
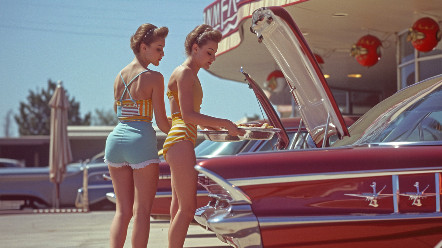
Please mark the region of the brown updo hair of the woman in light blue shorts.
POLYGON ((166 38, 169 33, 167 27, 156 27, 150 23, 145 23, 138 27, 135 34, 130 37, 130 48, 133 50, 133 54, 140 52, 141 44, 149 46, 152 42, 155 42, 157 38, 166 38))

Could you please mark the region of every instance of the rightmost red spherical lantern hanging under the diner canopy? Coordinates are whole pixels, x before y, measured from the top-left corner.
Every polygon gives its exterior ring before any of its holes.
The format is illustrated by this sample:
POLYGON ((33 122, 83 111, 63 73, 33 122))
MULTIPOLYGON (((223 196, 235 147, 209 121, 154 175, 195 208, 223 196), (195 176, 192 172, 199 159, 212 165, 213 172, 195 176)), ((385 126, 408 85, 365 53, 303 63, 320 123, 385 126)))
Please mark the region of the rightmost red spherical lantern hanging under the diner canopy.
POLYGON ((438 45, 441 35, 439 24, 430 17, 424 17, 409 28, 407 41, 411 41, 416 50, 429 52, 438 45))

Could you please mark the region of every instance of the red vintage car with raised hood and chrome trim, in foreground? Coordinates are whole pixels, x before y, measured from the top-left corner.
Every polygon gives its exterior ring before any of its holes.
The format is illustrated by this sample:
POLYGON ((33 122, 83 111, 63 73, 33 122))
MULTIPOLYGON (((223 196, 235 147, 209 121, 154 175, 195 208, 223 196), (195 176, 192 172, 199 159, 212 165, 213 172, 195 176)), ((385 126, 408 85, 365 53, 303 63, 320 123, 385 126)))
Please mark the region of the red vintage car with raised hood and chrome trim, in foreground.
POLYGON ((442 75, 400 90, 347 130, 291 16, 268 7, 252 19, 320 148, 199 162, 198 182, 214 200, 195 220, 235 248, 440 248, 442 75), (324 137, 336 141, 322 147, 324 137))

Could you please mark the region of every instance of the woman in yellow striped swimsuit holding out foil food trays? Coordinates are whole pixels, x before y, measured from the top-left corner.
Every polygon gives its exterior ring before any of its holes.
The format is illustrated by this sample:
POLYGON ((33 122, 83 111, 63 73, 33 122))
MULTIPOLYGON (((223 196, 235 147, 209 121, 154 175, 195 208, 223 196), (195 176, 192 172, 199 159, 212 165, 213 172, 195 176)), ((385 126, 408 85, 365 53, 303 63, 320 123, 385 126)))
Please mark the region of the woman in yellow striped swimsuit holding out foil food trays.
POLYGON ((187 59, 175 68, 167 86, 167 96, 172 113, 172 127, 163 146, 164 159, 171 170, 172 202, 168 231, 169 248, 182 248, 187 229, 196 210, 198 171, 195 141, 197 125, 209 130, 227 128, 232 136, 244 135, 234 122, 208 116, 199 112, 202 88, 198 71, 208 70, 221 41, 220 31, 206 24, 195 27, 184 43, 187 59))

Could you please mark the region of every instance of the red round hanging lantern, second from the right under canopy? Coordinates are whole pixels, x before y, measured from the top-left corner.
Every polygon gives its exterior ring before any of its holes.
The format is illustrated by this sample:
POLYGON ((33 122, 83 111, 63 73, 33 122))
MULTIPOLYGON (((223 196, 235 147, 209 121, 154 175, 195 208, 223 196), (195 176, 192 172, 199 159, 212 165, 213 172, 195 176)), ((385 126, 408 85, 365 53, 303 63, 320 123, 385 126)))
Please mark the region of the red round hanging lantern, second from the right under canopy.
POLYGON ((374 66, 381 59, 381 46, 382 43, 377 37, 366 35, 351 47, 350 55, 362 66, 374 66))

